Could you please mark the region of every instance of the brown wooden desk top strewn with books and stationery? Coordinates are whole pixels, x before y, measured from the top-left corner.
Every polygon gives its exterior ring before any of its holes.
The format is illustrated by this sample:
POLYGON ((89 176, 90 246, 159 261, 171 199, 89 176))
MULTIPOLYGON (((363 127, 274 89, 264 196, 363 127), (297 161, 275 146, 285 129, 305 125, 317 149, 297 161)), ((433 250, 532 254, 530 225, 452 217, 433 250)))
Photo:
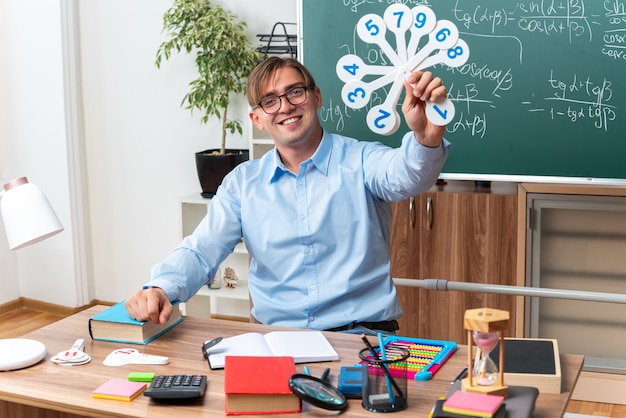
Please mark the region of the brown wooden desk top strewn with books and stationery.
MULTIPOLYGON (((146 346, 133 346, 142 353, 168 356, 170 364, 161 366, 127 365, 107 367, 102 364, 111 351, 122 348, 118 343, 92 341, 87 330, 88 319, 104 309, 96 306, 70 316, 52 325, 25 335, 43 342, 47 348, 46 358, 35 366, 0 373, 0 416, 2 417, 207 417, 224 415, 224 372, 210 370, 202 357, 200 346, 206 339, 216 336, 229 337, 244 332, 268 332, 275 330, 259 324, 233 322, 197 317, 187 317, 175 328, 146 346), (69 348, 78 338, 85 339, 85 351, 92 361, 82 366, 58 366, 50 357, 69 348), (132 402, 93 399, 91 391, 108 379, 126 379, 131 371, 154 371, 157 374, 206 374, 208 387, 205 396, 192 402, 178 405, 158 404, 140 396, 132 402)), ((340 365, 351 365, 358 361, 358 350, 363 342, 358 335, 327 333, 328 340, 337 350, 340 361, 309 364, 313 374, 331 367, 331 382, 337 382, 340 365)), ((430 381, 409 381, 409 408, 393 414, 426 417, 435 400, 445 395, 450 382, 464 367, 467 347, 459 347, 439 372, 430 381)), ((554 418, 562 416, 582 368, 583 356, 561 355, 563 391, 560 395, 542 394, 536 405, 535 417, 554 418)), ((298 365, 302 371, 303 365, 298 365)), ((372 413, 361 407, 360 400, 350 400, 346 417, 371 417, 372 413)), ((329 416, 324 411, 303 403, 303 412, 311 416, 329 416)), ((298 416, 298 415, 292 415, 298 416)))

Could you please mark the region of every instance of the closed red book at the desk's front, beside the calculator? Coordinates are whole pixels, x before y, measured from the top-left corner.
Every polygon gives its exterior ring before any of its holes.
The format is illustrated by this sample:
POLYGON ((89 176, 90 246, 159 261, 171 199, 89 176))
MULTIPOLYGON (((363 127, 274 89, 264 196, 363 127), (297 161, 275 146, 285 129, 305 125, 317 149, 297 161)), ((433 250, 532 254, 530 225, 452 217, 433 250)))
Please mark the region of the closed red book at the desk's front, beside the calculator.
POLYGON ((226 415, 300 412, 300 398, 289 389, 295 373, 293 357, 226 356, 226 415))

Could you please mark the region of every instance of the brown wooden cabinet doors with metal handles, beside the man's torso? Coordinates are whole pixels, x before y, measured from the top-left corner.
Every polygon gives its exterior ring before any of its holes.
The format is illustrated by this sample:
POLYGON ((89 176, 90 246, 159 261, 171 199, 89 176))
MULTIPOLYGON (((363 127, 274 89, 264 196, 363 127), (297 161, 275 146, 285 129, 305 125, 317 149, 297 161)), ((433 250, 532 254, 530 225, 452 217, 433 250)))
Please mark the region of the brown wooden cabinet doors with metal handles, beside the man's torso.
MULTIPOLYGON (((408 202, 397 204, 392 232, 392 275, 457 282, 515 284, 517 196, 481 192, 428 192, 415 198, 415 227, 396 225, 408 202), (396 256, 396 241, 399 254, 396 256), (417 254, 417 256, 415 255, 417 254), (404 265, 408 264, 408 265, 404 265), (399 275, 406 273, 406 275, 399 275)), ((514 335, 515 298, 487 293, 398 287, 404 317, 400 333, 465 344, 466 309, 509 311, 514 335)))

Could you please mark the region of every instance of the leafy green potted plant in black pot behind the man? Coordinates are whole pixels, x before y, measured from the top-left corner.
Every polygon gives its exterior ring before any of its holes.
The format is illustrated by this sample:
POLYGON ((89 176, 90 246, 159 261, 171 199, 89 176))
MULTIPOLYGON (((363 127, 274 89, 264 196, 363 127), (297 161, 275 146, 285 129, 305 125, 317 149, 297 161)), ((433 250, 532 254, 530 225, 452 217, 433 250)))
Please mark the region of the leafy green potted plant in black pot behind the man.
POLYGON ((228 119, 231 94, 242 94, 248 74, 260 54, 246 36, 245 22, 211 0, 175 0, 163 15, 166 40, 156 54, 156 66, 175 51, 195 54, 197 78, 189 83, 181 106, 202 112, 201 123, 221 121, 221 147, 196 153, 202 196, 211 197, 222 179, 249 158, 249 150, 226 148, 226 134, 242 134, 240 120, 228 119))

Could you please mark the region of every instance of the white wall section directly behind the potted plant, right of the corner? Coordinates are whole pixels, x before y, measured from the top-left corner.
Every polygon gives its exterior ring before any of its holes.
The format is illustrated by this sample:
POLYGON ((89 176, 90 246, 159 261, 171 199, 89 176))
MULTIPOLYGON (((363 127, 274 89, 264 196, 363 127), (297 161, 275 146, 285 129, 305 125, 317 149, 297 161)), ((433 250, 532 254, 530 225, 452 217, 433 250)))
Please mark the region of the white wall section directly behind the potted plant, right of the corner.
MULTIPOLYGON (((248 22, 251 38, 275 20, 294 21, 295 3, 220 3, 248 22)), ((199 193, 194 153, 215 148, 217 121, 200 125, 180 107, 194 77, 190 56, 154 66, 170 1, 82 2, 81 41, 88 138, 95 294, 122 299, 180 240, 182 196, 199 193), (121 12, 123 11, 123 13, 121 12)), ((247 119, 241 100, 236 113, 247 119)), ((247 148, 247 132, 230 141, 247 148)))

